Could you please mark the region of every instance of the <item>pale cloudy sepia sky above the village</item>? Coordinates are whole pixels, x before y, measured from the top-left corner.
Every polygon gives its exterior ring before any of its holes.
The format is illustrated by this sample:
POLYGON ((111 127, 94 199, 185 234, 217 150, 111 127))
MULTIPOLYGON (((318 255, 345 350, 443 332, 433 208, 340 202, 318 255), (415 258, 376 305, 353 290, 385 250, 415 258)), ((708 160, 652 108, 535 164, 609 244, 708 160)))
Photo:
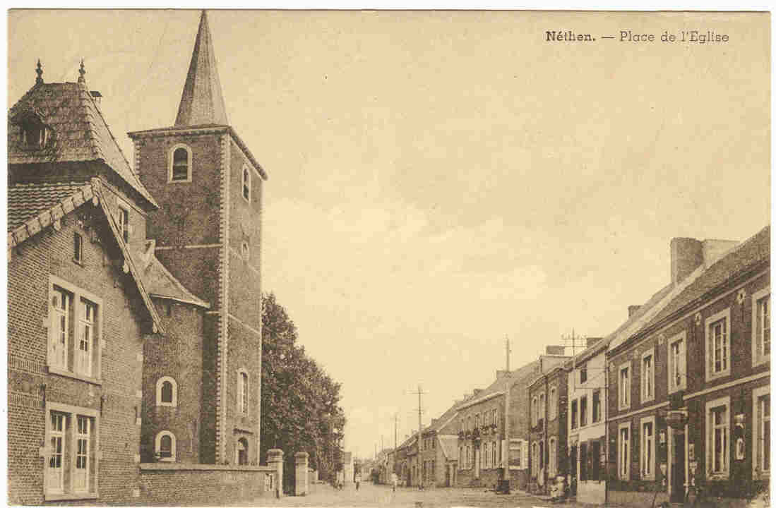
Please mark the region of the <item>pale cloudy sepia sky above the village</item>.
MULTIPOLYGON (((230 124, 268 172, 263 287, 342 383, 345 445, 393 446, 504 368, 601 337, 670 282, 672 237, 770 218, 763 14, 210 11, 230 124), (627 43, 621 30, 728 43, 627 43), (614 40, 546 41, 546 30, 614 40)), ((171 126, 197 11, 12 11, 35 81, 171 126), (41 34, 45 34, 42 36, 41 34)))

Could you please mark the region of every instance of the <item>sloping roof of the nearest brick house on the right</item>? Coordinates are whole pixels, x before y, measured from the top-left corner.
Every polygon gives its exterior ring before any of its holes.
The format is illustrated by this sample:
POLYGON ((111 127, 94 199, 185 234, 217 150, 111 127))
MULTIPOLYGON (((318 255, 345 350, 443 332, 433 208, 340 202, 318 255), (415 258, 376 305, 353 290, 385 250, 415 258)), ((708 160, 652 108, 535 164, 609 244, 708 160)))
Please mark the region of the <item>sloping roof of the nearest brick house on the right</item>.
POLYGON ((650 320, 647 328, 660 323, 668 316, 684 309, 713 289, 724 285, 758 264, 771 259, 771 225, 768 224, 753 237, 733 247, 727 254, 706 268, 687 288, 672 299, 667 306, 650 320))

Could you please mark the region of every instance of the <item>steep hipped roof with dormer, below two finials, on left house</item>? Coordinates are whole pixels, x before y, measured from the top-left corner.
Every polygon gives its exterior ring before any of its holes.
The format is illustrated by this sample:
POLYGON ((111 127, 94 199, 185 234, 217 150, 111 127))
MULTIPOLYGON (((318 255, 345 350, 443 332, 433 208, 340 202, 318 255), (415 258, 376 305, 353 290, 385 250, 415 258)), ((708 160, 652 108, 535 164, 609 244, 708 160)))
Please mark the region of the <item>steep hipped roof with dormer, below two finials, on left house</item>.
POLYGON ((102 112, 85 83, 39 83, 9 110, 9 164, 102 161, 148 202, 154 198, 134 174, 102 112), (21 146, 22 126, 16 121, 34 115, 54 134, 42 150, 21 146))

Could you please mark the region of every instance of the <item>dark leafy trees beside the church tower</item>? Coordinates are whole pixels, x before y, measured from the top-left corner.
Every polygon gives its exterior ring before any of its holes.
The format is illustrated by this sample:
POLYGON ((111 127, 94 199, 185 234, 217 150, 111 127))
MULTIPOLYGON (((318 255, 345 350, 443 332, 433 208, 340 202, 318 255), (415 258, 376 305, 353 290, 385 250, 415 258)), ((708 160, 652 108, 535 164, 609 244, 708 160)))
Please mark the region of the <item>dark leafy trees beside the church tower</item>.
MULTIPOLYGON (((262 461, 281 449, 284 470, 293 475, 294 454, 307 451, 320 479, 341 468, 345 413, 341 385, 327 375, 304 346, 293 321, 272 293, 262 295, 262 461)), ((286 476, 286 474, 284 474, 286 476)))

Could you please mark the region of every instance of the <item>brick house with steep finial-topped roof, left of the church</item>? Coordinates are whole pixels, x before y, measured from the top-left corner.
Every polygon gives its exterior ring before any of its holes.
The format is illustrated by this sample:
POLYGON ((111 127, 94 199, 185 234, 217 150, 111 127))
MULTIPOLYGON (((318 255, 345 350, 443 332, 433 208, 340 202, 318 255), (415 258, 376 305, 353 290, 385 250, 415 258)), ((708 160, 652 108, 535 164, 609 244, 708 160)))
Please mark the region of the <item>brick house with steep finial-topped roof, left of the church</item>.
POLYGON ((9 502, 126 502, 143 344, 165 332, 124 231, 157 208, 84 69, 9 110, 9 502), (118 215, 119 203, 132 209, 118 215))

